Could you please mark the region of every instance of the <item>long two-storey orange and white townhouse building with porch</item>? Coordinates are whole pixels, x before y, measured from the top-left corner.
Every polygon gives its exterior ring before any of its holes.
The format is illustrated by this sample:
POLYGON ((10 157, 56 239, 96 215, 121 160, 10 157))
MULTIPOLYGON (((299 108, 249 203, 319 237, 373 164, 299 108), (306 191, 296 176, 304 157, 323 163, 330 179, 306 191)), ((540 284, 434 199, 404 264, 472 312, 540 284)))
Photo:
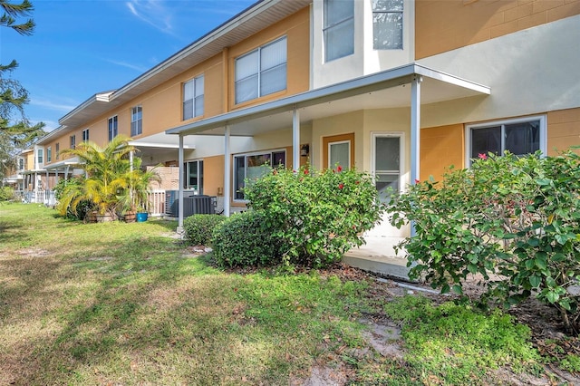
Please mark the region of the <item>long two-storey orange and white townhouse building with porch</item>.
MULTIPOLYGON (((73 161, 59 149, 130 135, 226 214, 265 161, 402 190, 480 152, 580 144, 579 67, 580 0, 264 0, 93 95, 35 151, 48 178, 73 161)), ((409 234, 384 221, 353 254, 393 257, 409 234)))

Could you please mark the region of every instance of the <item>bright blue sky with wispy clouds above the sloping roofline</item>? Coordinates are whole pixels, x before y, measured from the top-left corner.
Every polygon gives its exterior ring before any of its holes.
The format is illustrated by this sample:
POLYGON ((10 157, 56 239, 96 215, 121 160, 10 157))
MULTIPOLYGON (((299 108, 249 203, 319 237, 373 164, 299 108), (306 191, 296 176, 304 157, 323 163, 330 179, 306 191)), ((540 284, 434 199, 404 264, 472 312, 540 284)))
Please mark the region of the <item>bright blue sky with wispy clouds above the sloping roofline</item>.
MULTIPOLYGON (((21 0, 11 0, 13 4, 21 0)), ((34 124, 58 120, 95 93, 121 88, 256 0, 31 0, 32 36, 0 27, 4 75, 29 92, 34 124)))

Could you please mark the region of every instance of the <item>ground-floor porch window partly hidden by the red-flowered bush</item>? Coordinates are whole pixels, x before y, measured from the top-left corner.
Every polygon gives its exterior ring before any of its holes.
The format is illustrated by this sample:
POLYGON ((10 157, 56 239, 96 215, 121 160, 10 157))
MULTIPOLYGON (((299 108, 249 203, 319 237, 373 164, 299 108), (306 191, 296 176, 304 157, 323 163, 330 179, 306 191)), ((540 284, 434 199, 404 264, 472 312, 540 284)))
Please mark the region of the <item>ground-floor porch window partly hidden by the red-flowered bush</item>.
POLYGON ((263 153, 241 154, 234 157, 234 192, 235 199, 244 199, 243 189, 246 188, 246 179, 252 181, 264 176, 270 167, 277 168, 285 165, 285 150, 273 150, 263 153))

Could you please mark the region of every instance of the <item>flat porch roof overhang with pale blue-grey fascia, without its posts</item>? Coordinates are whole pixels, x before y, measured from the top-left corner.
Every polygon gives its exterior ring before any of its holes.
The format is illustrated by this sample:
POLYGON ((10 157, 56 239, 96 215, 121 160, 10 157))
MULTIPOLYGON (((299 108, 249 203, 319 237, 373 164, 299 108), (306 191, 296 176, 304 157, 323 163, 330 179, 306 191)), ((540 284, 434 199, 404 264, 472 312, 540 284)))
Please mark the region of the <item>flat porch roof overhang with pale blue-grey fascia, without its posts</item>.
POLYGON ((410 107, 411 87, 408 85, 417 77, 422 81, 420 104, 491 93, 488 86, 411 63, 247 109, 227 112, 165 132, 184 137, 196 134, 223 136, 228 126, 231 136, 254 136, 261 132, 288 128, 294 110, 300 111, 300 121, 304 123, 349 111, 410 107))

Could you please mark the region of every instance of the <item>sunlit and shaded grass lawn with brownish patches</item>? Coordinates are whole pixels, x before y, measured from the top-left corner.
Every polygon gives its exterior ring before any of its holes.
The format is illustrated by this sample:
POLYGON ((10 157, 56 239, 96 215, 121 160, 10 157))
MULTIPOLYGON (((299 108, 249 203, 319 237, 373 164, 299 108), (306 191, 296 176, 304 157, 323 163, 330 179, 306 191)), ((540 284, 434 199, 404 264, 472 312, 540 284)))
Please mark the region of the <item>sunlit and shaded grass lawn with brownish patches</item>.
MULTIPOLYGON (((0 385, 287 385, 320 364, 356 384, 486 384, 494 364, 466 370, 463 343, 438 347, 440 356, 457 353, 445 360, 467 377, 456 381, 439 373, 438 362, 429 367, 412 356, 425 351, 417 348, 424 338, 412 333, 403 334, 414 342, 405 359, 374 350, 360 320, 386 314, 384 302, 368 296, 371 281, 223 272, 172 238, 176 226, 82 224, 43 206, 1 204, 0 385)), ((518 368, 536 358, 501 355, 518 368)))

